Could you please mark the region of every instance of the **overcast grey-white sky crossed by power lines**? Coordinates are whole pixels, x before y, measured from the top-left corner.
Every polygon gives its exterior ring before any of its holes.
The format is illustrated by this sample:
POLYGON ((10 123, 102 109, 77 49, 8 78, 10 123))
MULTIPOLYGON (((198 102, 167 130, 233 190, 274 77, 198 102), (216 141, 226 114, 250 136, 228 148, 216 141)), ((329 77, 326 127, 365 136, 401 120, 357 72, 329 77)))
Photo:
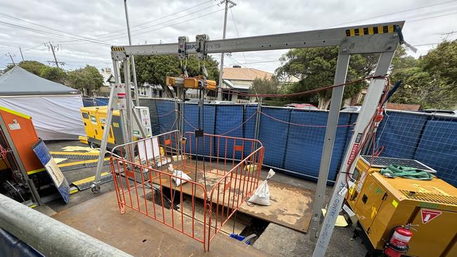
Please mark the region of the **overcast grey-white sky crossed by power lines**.
MULTIPOLYGON (((228 11, 227 38, 406 20, 406 41, 422 45, 417 46, 416 57, 427 53, 437 42, 457 38, 457 0, 234 1, 237 5, 228 11), (450 32, 454 33, 447 34, 450 32)), ((224 6, 219 2, 128 0, 132 44, 174 43, 179 36, 195 39, 195 34, 203 33, 210 39, 221 39, 224 6)), ((15 55, 15 62, 20 62, 18 46, 22 47, 25 60, 44 63, 53 60, 51 51, 44 45, 49 41, 59 46, 56 55, 58 61, 65 62, 63 67, 67 70, 86 64, 111 67, 110 45, 128 44, 125 28, 122 0, 3 1, 0 69, 11 62, 5 55, 8 52, 15 55)), ((233 53, 226 57, 224 66, 242 64, 273 72, 281 65, 278 58, 283 53, 233 53)), ((220 60, 220 55, 214 57, 220 60)))

